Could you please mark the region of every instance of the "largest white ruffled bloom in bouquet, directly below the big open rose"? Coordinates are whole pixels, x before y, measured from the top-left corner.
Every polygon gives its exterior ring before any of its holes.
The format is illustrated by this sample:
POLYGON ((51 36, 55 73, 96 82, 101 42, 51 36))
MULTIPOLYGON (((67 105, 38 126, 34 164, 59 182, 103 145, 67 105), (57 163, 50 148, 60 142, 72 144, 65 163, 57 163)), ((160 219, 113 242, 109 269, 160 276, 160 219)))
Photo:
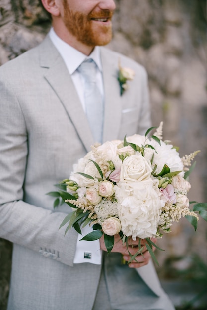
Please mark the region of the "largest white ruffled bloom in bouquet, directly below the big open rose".
POLYGON ((122 231, 126 236, 147 238, 157 232, 162 203, 151 179, 115 185, 122 231))

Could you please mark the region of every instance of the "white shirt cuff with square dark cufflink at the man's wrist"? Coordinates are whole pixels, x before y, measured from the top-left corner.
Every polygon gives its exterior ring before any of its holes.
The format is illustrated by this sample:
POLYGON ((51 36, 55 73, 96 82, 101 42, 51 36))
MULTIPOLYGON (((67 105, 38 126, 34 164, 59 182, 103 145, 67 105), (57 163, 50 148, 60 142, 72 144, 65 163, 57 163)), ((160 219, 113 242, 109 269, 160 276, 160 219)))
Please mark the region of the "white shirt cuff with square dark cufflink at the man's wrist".
POLYGON ((100 248, 99 239, 94 241, 86 241, 86 240, 80 241, 80 239, 82 239, 83 236, 93 231, 92 227, 89 227, 89 225, 87 225, 81 228, 81 231, 82 235, 78 234, 73 263, 80 264, 84 262, 89 262, 95 265, 101 265, 102 250, 100 248))

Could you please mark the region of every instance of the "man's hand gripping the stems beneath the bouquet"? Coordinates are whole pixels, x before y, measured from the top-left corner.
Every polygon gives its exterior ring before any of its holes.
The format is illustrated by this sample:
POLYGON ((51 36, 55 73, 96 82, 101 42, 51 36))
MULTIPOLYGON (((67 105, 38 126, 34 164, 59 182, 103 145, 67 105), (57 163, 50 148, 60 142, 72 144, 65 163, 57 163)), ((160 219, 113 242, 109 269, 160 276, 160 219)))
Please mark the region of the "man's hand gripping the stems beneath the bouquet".
MULTIPOLYGON (((151 238, 152 242, 156 243, 156 238, 151 238)), ((120 235, 117 234, 114 236, 114 247, 111 252, 119 252, 123 255, 124 260, 129 261, 130 260, 130 255, 134 255, 138 251, 138 243, 139 243, 139 238, 137 238, 135 241, 133 241, 130 237, 128 237, 128 249, 126 244, 123 245, 123 242, 120 238, 120 235)), ((141 239, 141 245, 143 246, 142 254, 138 254, 135 259, 132 262, 128 264, 130 268, 139 268, 142 266, 145 266, 148 264, 149 259, 151 255, 147 251, 147 248, 145 246, 146 240, 141 239)), ((104 244, 104 235, 100 238, 100 246, 103 251, 107 251, 105 244, 104 244)), ((153 251, 155 250, 155 247, 153 247, 153 251)))

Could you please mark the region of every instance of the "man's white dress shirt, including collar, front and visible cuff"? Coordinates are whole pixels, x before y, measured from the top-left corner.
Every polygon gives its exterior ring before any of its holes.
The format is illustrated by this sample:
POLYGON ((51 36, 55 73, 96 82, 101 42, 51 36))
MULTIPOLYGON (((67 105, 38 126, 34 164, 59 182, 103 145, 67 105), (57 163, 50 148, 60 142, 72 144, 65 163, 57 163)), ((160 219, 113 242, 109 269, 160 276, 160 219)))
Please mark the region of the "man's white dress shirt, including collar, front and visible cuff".
MULTIPOLYGON (((98 70, 96 72, 97 85, 98 85, 98 88, 100 89, 101 94, 104 95, 100 48, 95 47, 93 52, 89 56, 86 56, 82 52, 79 52, 78 50, 74 49, 69 44, 64 42, 62 39, 60 39, 55 33, 53 28, 51 28, 49 32, 49 36, 50 36, 51 41, 53 42, 53 44, 55 45, 55 47, 61 54, 66 64, 66 67, 68 68, 69 74, 71 75, 72 81, 74 83, 74 86, 77 90, 80 101, 82 103, 82 107, 85 110, 84 88, 83 88, 84 81, 80 73, 77 71, 77 68, 85 59, 92 58, 98 66, 98 70)), ((75 257, 74 257, 73 262, 76 264, 83 263, 83 262, 89 262, 89 263, 100 265, 102 251, 100 249, 99 240, 79 241, 83 236, 91 232, 92 228, 87 225, 86 227, 82 228, 81 231, 82 231, 82 235, 80 234, 78 235, 75 257)))

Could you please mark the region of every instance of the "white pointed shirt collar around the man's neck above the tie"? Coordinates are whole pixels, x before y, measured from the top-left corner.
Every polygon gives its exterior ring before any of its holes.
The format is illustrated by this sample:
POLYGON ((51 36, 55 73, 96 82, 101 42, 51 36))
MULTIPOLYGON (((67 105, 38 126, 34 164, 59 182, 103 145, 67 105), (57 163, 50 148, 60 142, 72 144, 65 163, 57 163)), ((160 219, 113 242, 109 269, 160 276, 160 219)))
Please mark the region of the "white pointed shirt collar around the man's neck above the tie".
POLYGON ((96 46, 93 52, 86 56, 82 52, 71 47, 68 43, 63 41, 58 35, 55 33, 54 29, 51 28, 49 31, 49 37, 53 44, 55 45, 56 49, 61 54, 69 73, 72 74, 75 70, 79 67, 79 65, 88 58, 92 58, 94 62, 97 64, 100 72, 102 72, 102 65, 101 65, 101 56, 100 56, 100 47, 96 46), (71 61, 72 59, 72 61, 71 61))

